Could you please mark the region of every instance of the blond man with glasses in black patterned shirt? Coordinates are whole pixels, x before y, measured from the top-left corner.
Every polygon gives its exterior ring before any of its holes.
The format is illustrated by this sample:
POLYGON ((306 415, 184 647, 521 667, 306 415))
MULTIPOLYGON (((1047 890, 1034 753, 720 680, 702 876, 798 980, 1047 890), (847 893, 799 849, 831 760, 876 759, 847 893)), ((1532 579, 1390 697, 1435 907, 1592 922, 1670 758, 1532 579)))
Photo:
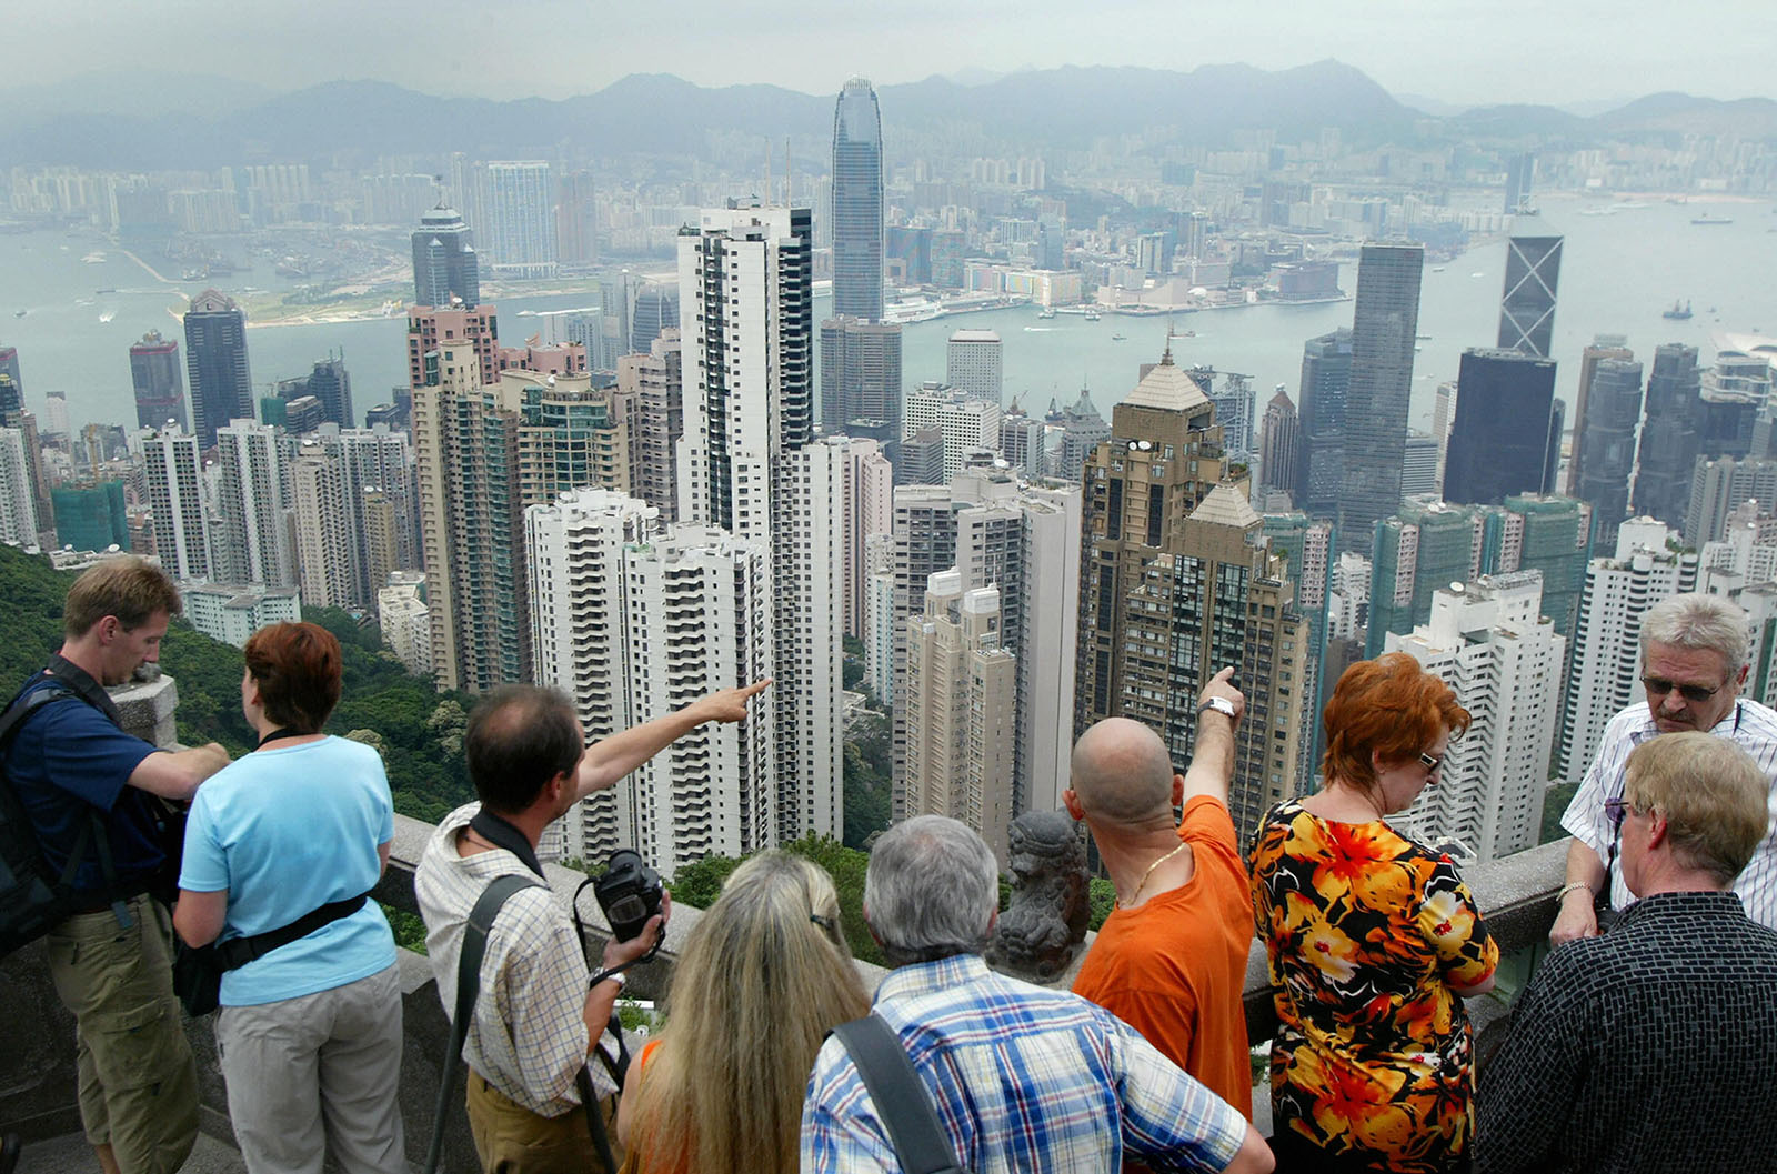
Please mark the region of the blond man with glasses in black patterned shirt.
POLYGON ((1635 748, 1606 810, 1638 900, 1519 996, 1480 1073, 1477 1174, 1777 1170, 1777 931, 1733 892, 1768 796, 1727 739, 1635 748))

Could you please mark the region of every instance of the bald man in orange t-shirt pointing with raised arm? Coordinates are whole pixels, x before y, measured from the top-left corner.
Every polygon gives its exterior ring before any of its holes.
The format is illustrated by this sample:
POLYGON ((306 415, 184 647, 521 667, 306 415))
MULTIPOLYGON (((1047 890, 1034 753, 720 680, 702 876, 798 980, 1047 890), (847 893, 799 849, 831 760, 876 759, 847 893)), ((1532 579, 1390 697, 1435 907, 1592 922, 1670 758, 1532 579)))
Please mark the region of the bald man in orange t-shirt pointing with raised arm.
POLYGON ((1246 698, 1231 677, 1231 668, 1215 673, 1198 698, 1189 771, 1173 773, 1148 726, 1107 718, 1075 742, 1072 787, 1061 797, 1091 829, 1118 895, 1073 991, 1251 1119, 1240 988, 1253 906, 1228 815, 1233 730, 1246 698))

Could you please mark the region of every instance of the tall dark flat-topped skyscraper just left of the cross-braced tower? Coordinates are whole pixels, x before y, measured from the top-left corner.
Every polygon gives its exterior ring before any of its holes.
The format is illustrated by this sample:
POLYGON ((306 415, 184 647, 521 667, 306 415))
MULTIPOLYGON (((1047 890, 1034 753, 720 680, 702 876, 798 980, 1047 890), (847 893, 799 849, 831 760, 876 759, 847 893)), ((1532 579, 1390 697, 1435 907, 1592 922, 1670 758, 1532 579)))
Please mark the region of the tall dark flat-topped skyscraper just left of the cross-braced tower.
POLYGON ((1422 245, 1365 245, 1359 254, 1338 499, 1338 540, 1347 551, 1361 552, 1375 522, 1400 504, 1423 270, 1422 245))

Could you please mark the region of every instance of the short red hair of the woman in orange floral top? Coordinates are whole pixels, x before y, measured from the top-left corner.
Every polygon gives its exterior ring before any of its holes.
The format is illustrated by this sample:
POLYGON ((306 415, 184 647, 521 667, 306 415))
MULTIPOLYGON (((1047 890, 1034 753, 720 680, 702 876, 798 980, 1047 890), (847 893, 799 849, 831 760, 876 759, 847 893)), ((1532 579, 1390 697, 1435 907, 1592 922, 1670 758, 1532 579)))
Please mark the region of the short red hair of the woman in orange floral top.
POLYGON ((1322 778, 1370 790, 1375 787, 1372 755, 1386 764, 1416 758, 1445 730, 1462 735, 1468 710, 1455 703, 1455 691, 1418 661, 1390 652, 1345 670, 1333 686, 1322 721, 1327 732, 1322 778))

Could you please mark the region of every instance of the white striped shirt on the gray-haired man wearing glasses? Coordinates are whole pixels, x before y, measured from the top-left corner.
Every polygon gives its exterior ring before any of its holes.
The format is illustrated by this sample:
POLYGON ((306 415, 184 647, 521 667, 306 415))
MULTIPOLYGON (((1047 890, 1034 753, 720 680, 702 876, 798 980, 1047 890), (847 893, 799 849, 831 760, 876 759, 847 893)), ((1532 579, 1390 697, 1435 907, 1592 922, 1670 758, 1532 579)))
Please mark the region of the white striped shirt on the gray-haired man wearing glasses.
MULTIPOLYGON (((1560 826, 1598 853, 1601 861, 1610 861, 1610 845, 1615 840, 1610 821, 1605 817, 1605 799, 1622 797, 1622 767, 1630 760, 1630 751, 1658 734, 1660 726, 1654 725, 1647 702, 1630 705, 1612 718, 1598 742, 1592 769, 1585 773, 1585 781, 1580 783, 1573 803, 1560 817, 1560 826)), ((1772 780, 1766 801, 1772 826, 1752 853, 1752 863, 1734 881, 1734 892, 1740 893, 1747 916, 1777 929, 1777 710, 1750 698, 1740 698, 1734 702, 1733 712, 1722 718, 1709 734, 1733 739, 1772 780)), ((1619 854, 1615 867, 1610 869, 1610 906, 1622 909, 1631 900, 1635 897, 1622 881, 1622 858, 1619 854)))

